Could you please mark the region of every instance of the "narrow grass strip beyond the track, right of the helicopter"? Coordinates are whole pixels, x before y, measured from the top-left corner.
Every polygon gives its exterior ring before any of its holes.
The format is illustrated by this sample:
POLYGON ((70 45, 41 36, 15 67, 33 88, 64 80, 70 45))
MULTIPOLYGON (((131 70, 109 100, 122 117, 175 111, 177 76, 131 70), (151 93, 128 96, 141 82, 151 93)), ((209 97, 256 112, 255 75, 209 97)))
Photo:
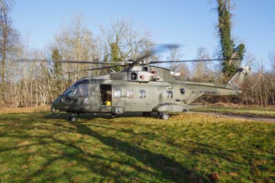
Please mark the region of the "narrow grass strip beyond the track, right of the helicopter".
POLYGON ((224 114, 241 114, 247 116, 271 116, 275 117, 275 109, 264 109, 264 108, 230 108, 230 107, 201 107, 194 109, 193 111, 206 111, 206 112, 220 112, 224 114))

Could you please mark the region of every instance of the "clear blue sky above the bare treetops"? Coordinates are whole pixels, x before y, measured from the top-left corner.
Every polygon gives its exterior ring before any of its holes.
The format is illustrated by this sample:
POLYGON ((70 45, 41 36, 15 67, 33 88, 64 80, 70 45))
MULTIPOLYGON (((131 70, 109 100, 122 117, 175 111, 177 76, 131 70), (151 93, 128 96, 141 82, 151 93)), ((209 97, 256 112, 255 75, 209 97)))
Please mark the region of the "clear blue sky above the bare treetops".
MULTIPOLYGON (((214 2, 214 0, 212 0, 214 2)), ((195 58, 197 48, 206 47, 214 54, 218 47, 217 12, 209 0, 139 0, 73 1, 15 0, 12 10, 14 26, 28 32, 32 47, 47 45, 62 23, 69 23, 72 13, 80 13, 95 35, 100 26, 131 19, 136 26, 149 30, 155 43, 180 43, 183 58, 195 58)), ((236 7, 232 36, 245 43, 257 61, 268 67, 269 53, 275 52, 275 1, 232 0, 236 7)), ((268 69, 268 68, 267 68, 268 69)))

